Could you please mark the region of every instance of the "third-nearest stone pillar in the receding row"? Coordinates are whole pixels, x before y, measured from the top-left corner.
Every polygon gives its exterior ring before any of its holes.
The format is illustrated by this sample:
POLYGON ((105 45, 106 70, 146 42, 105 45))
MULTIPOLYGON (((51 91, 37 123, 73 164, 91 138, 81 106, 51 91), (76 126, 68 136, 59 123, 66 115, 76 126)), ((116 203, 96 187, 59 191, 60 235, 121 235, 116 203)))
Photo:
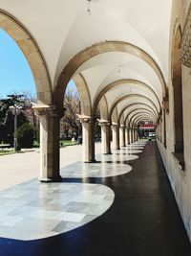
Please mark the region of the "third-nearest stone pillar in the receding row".
POLYGON ((101 127, 101 151, 104 154, 110 154, 110 123, 107 120, 98 120, 98 122, 101 127))

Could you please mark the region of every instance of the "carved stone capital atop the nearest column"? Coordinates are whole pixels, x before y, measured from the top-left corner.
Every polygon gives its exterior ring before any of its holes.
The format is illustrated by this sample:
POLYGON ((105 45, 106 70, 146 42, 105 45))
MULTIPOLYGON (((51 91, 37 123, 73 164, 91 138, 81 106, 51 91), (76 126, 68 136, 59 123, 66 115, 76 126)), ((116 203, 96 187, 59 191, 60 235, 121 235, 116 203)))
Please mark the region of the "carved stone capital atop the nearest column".
POLYGON ((32 105, 32 109, 38 116, 58 116, 58 111, 55 105, 32 105))

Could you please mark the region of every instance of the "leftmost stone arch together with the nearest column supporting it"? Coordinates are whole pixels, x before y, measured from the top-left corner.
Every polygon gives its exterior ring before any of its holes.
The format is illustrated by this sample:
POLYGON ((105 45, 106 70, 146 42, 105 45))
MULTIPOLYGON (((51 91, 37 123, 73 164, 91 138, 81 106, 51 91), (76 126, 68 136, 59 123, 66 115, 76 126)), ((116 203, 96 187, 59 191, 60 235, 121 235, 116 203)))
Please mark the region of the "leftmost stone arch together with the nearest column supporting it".
POLYGON ((0 10, 0 28, 11 35, 20 47, 32 70, 36 88, 37 105, 35 111, 40 120, 40 179, 59 179, 59 164, 57 152, 59 136, 54 140, 53 134, 58 134, 58 116, 53 105, 52 84, 46 65, 37 43, 31 33, 10 13, 0 10), (54 125, 54 120, 56 124, 54 125), (52 130, 52 132, 50 132, 52 130))

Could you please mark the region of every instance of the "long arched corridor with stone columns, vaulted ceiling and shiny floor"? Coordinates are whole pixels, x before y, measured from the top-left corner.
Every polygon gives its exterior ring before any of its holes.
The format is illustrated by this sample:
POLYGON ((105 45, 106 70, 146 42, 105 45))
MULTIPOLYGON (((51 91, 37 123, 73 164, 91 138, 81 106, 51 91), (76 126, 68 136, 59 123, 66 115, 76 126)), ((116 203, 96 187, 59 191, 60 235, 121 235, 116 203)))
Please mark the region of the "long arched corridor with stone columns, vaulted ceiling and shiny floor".
POLYGON ((191 254, 191 1, 24 2, 0 0, 0 29, 31 67, 40 166, 38 180, 0 192, 11 226, 0 225, 11 239, 3 246, 27 240, 12 249, 29 245, 35 256, 191 254), (82 146, 67 165, 70 81, 82 146), (18 196, 12 211, 9 195, 18 196))

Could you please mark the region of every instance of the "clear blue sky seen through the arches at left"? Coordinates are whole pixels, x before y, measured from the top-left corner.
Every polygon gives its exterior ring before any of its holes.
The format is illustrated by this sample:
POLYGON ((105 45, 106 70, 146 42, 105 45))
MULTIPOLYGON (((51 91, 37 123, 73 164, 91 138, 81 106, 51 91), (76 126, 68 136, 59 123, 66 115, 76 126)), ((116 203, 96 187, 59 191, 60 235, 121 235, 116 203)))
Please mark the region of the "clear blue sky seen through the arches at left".
MULTIPOLYGON (((70 87, 74 86, 70 81, 70 87)), ((0 98, 22 91, 35 95, 31 68, 11 36, 0 29, 0 98)))

